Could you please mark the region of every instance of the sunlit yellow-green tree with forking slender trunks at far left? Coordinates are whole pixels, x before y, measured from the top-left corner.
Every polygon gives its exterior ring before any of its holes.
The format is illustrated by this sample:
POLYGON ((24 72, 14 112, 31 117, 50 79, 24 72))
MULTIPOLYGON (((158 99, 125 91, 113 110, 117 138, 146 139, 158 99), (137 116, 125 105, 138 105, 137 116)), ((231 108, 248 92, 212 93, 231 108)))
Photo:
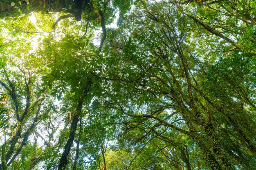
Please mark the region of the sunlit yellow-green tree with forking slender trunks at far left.
POLYGON ((22 44, 24 46, 18 49, 15 45, 10 43, 2 47, 8 52, 13 50, 12 54, 2 58, 1 63, 1 98, 6 102, 1 107, 4 118, 1 122, 4 135, 2 169, 7 169, 20 155, 29 142, 29 136, 35 133, 36 126, 51 114, 53 105, 47 90, 41 86, 42 82, 36 79, 40 75, 40 67, 32 66, 36 63, 29 64, 34 58, 28 53, 29 44, 22 44))

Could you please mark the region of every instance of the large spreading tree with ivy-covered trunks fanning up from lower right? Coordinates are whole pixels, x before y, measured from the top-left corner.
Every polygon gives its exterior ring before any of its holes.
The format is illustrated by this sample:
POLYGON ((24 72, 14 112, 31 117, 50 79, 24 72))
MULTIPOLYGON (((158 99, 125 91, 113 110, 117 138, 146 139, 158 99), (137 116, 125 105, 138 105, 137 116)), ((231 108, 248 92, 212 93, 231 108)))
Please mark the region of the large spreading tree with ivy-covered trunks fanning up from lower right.
MULTIPOLYGON (((111 73, 114 75, 110 74, 106 79, 111 80, 111 77, 115 77, 112 81, 117 80, 119 87, 125 86, 121 88, 121 96, 129 96, 129 99, 126 97, 125 100, 120 100, 121 97, 116 97, 117 94, 113 89, 110 92, 114 94, 116 100, 110 101, 112 107, 126 116, 142 120, 151 119, 166 128, 175 129, 192 137, 195 144, 201 149, 203 159, 212 169, 232 169, 235 166, 250 167, 249 162, 246 163, 247 165, 244 162, 251 160, 247 157, 254 155, 255 152, 254 130, 249 130, 249 126, 255 126, 254 117, 252 116, 246 121, 238 118, 241 110, 233 111, 229 108, 234 108, 236 102, 241 103, 241 100, 234 100, 231 97, 233 95, 229 93, 227 98, 218 98, 217 101, 216 98, 211 98, 209 92, 205 91, 205 86, 202 86, 202 80, 207 79, 211 74, 208 71, 210 63, 201 61, 196 50, 193 52, 191 49, 195 46, 190 46, 191 44, 186 41, 188 38, 191 39, 189 26, 198 24, 198 22, 186 14, 184 15, 176 5, 171 6, 164 3, 143 4, 141 10, 135 10, 130 14, 130 18, 126 17, 128 24, 125 32, 131 33, 133 36, 129 37, 125 44, 119 43, 123 42, 124 37, 119 36, 120 40, 113 39, 112 48, 115 51, 113 56, 116 57, 112 61, 115 60, 116 64, 113 64, 112 68, 110 66, 111 73), (162 9, 162 11, 159 12, 157 9, 162 9), (190 18, 192 20, 189 20, 190 18), (132 30, 129 29, 131 21, 134 21, 133 24, 137 25, 137 29, 134 27, 132 30), (121 106, 120 103, 126 104, 121 106), (132 106, 140 105, 140 103, 141 107, 146 105, 146 108, 152 109, 147 109, 149 111, 140 109, 142 111, 139 111, 140 114, 138 114, 139 108, 132 106), (224 103, 225 105, 223 105, 224 103), (159 117, 159 112, 165 109, 174 110, 186 122, 186 126, 180 128, 179 125, 173 125, 172 119, 168 116, 159 117), (222 126, 224 124, 227 129, 222 126), (231 131, 237 133, 231 133, 231 131), (233 150, 238 148, 236 142, 225 141, 225 137, 220 135, 223 133, 232 134, 226 138, 227 140, 239 138, 244 141, 246 146, 243 147, 250 150, 250 153, 241 153, 240 156, 237 156, 233 150), (249 139, 249 136, 252 138, 249 139)), ((231 45, 233 44, 231 43, 231 45)), ((235 53, 226 55, 236 56, 235 53)), ((242 54, 245 57, 248 55, 250 56, 250 54, 242 54)), ((233 70, 232 67, 231 70, 233 70)), ((244 71, 241 70, 241 72, 244 71)), ((220 79, 227 81, 224 77, 220 79)), ((232 83, 234 84, 233 81, 232 83)), ((238 91, 243 91, 243 87, 235 84, 236 87, 232 86, 232 88, 236 90, 240 88, 238 91)), ((219 89, 218 92, 221 92, 222 96, 224 95, 223 89, 219 89)), ((248 99, 253 100, 253 96, 248 99)), ((247 107, 242 109, 242 112, 247 112, 247 115, 250 115, 253 108, 252 106, 251 109, 247 109, 250 107, 249 105, 248 103, 247 107)), ((175 120, 173 121, 175 122, 175 120)))

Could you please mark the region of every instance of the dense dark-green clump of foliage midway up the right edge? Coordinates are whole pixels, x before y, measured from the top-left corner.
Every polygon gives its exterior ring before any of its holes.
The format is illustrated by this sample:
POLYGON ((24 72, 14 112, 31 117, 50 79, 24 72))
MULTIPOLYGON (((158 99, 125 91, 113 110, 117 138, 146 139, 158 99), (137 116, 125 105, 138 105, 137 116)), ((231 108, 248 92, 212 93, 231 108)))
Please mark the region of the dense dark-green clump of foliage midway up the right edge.
POLYGON ((221 58, 220 61, 209 68, 207 84, 209 91, 218 97, 219 95, 243 98, 243 94, 237 91, 237 86, 247 92, 248 98, 255 98, 254 61, 251 54, 234 52, 231 57, 221 58), (210 84, 211 83, 211 84, 210 84), (213 83, 213 84, 212 84, 213 83), (220 89, 222 89, 220 93, 220 89))

